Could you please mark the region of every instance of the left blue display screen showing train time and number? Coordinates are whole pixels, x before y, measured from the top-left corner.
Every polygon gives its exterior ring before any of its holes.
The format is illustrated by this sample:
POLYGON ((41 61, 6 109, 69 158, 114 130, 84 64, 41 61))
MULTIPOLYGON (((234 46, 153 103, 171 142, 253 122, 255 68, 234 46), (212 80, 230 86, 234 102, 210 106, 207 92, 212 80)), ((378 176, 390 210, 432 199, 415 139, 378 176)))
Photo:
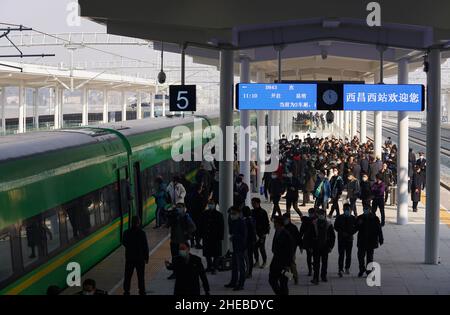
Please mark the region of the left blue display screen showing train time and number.
POLYGON ((317 84, 239 83, 236 107, 244 110, 315 110, 317 84))

